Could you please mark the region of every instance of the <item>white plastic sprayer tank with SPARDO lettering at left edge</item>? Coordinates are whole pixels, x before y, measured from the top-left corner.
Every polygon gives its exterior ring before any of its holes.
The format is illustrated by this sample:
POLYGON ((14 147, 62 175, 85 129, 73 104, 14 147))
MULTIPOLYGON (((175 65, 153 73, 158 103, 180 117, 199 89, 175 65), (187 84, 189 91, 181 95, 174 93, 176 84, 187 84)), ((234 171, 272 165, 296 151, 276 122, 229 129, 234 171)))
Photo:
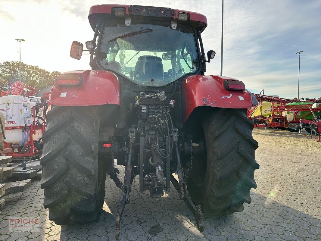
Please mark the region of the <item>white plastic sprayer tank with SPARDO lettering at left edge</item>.
MULTIPOLYGON (((0 97, 0 111, 4 114, 6 127, 24 126, 24 117, 31 114, 34 102, 30 102, 28 97, 20 95, 7 95, 0 97)), ((33 117, 26 119, 27 126, 33 122, 33 117)), ((6 130, 7 143, 20 143, 22 140, 22 130, 6 130)))

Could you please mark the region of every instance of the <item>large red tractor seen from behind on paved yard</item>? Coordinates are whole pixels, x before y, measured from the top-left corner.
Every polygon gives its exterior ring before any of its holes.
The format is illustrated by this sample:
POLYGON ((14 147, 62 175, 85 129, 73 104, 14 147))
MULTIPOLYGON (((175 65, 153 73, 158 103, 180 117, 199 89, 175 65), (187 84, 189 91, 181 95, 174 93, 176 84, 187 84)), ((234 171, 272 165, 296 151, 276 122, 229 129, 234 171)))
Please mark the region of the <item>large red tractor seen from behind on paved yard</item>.
MULTIPOLYGON (((91 70, 62 73, 49 98, 41 158, 49 219, 97 220, 106 173, 121 189, 116 239, 136 175, 153 198, 171 182, 200 231, 203 213, 242 211, 259 168, 247 118, 257 101, 239 80, 204 75, 215 55, 204 53, 206 17, 116 4, 92 6, 89 22, 91 70), (125 166, 122 182, 114 159, 125 166)), ((82 51, 74 41, 70 56, 82 51)))

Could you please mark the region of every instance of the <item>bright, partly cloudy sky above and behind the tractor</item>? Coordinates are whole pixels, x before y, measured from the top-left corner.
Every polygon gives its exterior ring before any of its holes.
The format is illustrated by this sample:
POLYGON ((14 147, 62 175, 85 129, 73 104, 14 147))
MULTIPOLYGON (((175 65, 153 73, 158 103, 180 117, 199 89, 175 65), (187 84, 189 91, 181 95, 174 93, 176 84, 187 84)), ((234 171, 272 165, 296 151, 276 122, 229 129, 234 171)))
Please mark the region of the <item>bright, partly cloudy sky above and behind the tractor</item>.
MULTIPOLYGON (((89 55, 69 57, 73 40, 92 40, 89 8, 95 4, 155 5, 194 11, 207 17, 202 34, 204 50, 215 58, 207 64, 207 75, 220 75, 221 0, 89 1, 89 0, 1 0, 0 63, 21 61, 48 71, 89 69, 89 55)), ((223 76, 243 81, 253 93, 294 98, 321 96, 321 1, 225 0, 223 76)))

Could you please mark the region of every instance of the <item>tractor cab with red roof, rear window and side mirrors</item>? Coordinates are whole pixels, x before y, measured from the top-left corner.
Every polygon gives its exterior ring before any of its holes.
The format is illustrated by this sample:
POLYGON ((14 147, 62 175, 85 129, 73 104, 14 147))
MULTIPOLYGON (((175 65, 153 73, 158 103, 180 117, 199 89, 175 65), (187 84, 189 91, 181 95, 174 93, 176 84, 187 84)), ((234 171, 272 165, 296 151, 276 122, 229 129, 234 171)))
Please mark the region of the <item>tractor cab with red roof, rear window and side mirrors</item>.
MULTIPOLYGON (((92 69, 155 87, 205 72, 200 33, 207 23, 202 14, 162 7, 95 5, 89 21, 95 31, 93 40, 86 42, 92 69)), ((81 51, 74 56, 74 49, 82 50, 80 43, 75 48, 77 43, 71 49, 73 58, 81 56, 81 51)))

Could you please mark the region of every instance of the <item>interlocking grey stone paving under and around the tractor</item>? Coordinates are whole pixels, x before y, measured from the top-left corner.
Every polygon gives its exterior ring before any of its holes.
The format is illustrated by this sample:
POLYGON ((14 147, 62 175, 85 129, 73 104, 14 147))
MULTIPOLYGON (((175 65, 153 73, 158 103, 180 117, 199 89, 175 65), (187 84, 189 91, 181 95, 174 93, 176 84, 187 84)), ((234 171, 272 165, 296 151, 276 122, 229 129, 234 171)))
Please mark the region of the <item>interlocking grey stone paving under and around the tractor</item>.
MULTIPOLYGON (((244 211, 222 217, 205 217, 204 233, 195 228, 194 218, 172 188, 158 200, 139 194, 135 179, 131 204, 126 206, 121 240, 321 240, 321 143, 303 134, 282 130, 255 129, 260 147, 256 160, 257 189, 244 211), (143 198, 143 199, 142 199, 143 198), (145 200, 145 201, 143 201, 145 200)), ((121 169, 123 171, 123 169, 121 169)), ((114 217, 120 191, 107 178, 106 198, 98 222, 59 226, 48 220, 43 208, 40 181, 24 193, 6 197, 0 213, 0 240, 114 240, 114 217), (9 233, 9 217, 38 217, 40 232, 9 233)))

